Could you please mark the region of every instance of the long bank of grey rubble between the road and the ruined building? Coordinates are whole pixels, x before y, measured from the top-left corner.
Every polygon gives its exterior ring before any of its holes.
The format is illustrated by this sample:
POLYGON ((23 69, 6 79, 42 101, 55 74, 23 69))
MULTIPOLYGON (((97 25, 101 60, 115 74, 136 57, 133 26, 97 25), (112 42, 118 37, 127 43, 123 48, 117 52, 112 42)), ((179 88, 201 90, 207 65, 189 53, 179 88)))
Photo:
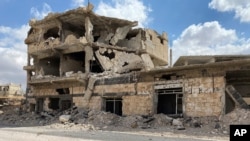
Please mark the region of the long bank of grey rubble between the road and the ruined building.
POLYGON ((179 117, 164 114, 153 116, 118 116, 104 111, 78 109, 65 111, 30 113, 15 106, 1 107, 1 126, 49 126, 50 128, 82 130, 147 129, 170 130, 192 134, 228 135, 230 124, 249 124, 250 111, 235 109, 233 112, 217 117, 179 117))

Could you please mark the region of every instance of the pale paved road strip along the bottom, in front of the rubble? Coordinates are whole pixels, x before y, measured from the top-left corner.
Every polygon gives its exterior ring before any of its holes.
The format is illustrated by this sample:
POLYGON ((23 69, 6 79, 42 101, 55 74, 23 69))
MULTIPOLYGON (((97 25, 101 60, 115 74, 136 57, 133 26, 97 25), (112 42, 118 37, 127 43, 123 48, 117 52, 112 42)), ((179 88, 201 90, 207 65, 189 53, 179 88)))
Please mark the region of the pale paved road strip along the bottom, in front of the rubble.
MULTIPOLYGON (((218 141, 185 135, 146 132, 116 132, 50 129, 44 127, 0 127, 0 141, 218 141)), ((223 139, 224 141, 225 139, 223 139)))

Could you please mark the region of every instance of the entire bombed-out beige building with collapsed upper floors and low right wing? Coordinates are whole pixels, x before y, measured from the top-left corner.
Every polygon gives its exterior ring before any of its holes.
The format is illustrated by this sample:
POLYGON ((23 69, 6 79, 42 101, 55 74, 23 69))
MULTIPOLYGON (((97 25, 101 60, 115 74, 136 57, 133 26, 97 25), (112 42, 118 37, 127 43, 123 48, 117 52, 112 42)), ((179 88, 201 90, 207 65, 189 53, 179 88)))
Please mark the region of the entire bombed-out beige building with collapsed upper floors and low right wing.
POLYGON ((249 56, 183 56, 167 68, 166 33, 92 9, 30 21, 30 111, 77 106, 123 116, 219 116, 248 108, 249 56))

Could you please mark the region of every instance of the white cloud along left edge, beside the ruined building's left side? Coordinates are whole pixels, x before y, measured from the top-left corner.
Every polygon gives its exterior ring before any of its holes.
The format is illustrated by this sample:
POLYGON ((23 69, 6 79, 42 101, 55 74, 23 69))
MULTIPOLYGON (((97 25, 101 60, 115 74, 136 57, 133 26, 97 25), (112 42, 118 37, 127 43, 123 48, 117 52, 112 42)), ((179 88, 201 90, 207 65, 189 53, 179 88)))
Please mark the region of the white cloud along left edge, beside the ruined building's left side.
POLYGON ((24 39, 29 30, 28 25, 19 28, 0 26, 0 83, 18 83, 25 86, 27 46, 24 39))

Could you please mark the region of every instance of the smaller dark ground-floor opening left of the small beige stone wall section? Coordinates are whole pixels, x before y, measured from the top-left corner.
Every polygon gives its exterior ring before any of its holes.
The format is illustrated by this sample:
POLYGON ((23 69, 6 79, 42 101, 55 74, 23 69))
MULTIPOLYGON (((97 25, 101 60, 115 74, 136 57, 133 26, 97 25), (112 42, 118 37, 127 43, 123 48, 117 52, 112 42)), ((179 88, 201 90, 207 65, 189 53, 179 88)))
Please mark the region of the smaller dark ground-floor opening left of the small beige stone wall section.
POLYGON ((122 115, 122 99, 108 98, 106 99, 106 112, 122 115))

